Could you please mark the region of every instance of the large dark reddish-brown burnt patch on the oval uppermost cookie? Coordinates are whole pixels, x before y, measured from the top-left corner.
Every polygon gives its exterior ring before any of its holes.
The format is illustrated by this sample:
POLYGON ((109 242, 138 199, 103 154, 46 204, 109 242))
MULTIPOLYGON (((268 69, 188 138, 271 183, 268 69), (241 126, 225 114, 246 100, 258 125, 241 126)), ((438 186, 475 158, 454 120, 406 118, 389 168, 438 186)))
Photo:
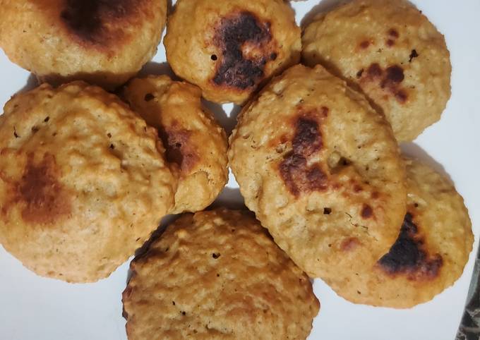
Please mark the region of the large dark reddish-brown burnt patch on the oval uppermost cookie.
POLYGON ((280 162, 279 170, 290 193, 298 197, 304 192, 325 190, 328 178, 318 164, 308 165, 308 159, 323 145, 318 121, 300 116, 294 126, 293 150, 280 162))

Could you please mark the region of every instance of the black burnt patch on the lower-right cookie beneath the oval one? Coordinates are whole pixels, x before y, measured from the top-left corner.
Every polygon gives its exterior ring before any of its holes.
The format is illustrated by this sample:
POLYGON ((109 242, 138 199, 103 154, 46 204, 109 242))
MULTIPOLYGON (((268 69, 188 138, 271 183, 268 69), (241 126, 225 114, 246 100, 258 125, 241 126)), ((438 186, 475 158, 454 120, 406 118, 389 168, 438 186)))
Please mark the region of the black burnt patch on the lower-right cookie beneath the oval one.
POLYGON ((443 265, 440 254, 429 255, 419 228, 410 213, 405 215, 400 235, 378 265, 390 275, 406 274, 409 280, 434 279, 443 265))

